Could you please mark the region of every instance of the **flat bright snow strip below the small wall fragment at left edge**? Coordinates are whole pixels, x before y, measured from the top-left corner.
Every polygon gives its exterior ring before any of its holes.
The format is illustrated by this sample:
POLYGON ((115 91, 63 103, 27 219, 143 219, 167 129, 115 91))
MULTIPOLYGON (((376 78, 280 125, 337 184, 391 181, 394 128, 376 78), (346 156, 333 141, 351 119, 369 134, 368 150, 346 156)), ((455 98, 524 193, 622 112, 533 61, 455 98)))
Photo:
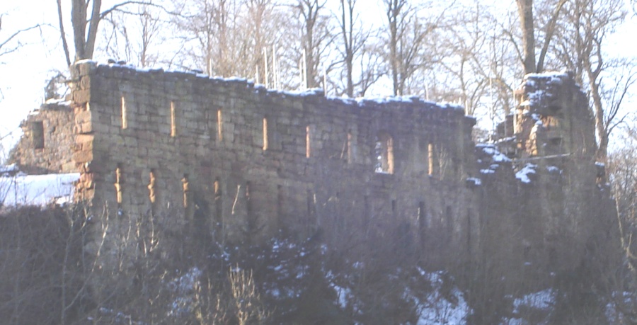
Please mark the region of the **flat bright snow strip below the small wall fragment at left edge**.
POLYGON ((5 206, 69 202, 79 173, 0 177, 0 200, 5 206))

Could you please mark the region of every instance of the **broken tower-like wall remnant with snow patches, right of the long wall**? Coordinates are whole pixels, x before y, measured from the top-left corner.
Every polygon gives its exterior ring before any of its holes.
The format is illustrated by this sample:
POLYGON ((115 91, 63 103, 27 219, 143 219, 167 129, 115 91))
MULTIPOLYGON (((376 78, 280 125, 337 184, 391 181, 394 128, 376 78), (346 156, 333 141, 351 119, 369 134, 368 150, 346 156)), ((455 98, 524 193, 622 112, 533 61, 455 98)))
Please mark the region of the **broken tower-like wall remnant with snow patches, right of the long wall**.
POLYGON ((549 73, 525 76, 515 95, 513 135, 501 134, 498 146, 510 153, 517 186, 503 176, 486 182, 510 193, 514 204, 483 213, 510 215, 500 224, 517 238, 507 241, 535 270, 572 270, 600 252, 599 261, 615 258, 616 212, 607 185, 596 180, 595 123, 585 93, 572 75, 549 73))

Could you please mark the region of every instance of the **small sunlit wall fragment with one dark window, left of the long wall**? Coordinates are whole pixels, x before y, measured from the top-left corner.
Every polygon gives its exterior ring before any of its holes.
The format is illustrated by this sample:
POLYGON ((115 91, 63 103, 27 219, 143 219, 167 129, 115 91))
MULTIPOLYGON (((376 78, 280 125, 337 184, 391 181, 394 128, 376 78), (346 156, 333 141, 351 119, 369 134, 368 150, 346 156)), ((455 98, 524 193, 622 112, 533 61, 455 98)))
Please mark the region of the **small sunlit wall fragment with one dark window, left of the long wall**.
POLYGON ((8 163, 30 174, 75 172, 71 159, 73 126, 74 114, 68 103, 42 104, 21 122, 23 137, 11 150, 8 163))

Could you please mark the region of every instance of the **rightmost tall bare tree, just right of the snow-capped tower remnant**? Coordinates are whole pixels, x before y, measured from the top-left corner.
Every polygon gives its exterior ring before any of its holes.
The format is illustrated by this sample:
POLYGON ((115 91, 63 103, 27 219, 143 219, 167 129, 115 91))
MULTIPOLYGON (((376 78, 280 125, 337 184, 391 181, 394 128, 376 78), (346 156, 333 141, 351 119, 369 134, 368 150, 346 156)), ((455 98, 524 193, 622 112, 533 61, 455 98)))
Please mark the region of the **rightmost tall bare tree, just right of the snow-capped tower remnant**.
POLYGON ((605 50, 609 34, 624 21, 626 10, 619 0, 570 1, 565 9, 566 19, 558 25, 564 37, 554 52, 559 62, 573 69, 578 83, 586 86, 595 115, 597 159, 605 161, 609 135, 624 121, 621 105, 635 78, 631 60, 611 57, 605 50))

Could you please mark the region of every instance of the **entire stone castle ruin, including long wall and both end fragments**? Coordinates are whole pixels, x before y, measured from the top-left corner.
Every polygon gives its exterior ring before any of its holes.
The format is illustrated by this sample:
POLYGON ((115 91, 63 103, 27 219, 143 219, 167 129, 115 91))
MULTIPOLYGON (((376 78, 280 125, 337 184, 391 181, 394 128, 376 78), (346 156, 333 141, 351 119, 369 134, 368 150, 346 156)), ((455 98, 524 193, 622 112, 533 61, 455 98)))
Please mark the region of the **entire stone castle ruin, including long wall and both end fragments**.
POLYGON ((79 171, 75 197, 97 210, 216 241, 321 232, 442 265, 499 254, 520 276, 615 244, 592 115, 569 74, 528 75, 498 142, 476 146, 461 107, 419 98, 328 98, 94 62, 71 73, 69 106, 30 115, 13 160, 79 171))

